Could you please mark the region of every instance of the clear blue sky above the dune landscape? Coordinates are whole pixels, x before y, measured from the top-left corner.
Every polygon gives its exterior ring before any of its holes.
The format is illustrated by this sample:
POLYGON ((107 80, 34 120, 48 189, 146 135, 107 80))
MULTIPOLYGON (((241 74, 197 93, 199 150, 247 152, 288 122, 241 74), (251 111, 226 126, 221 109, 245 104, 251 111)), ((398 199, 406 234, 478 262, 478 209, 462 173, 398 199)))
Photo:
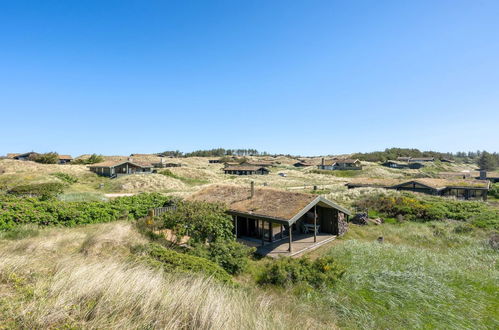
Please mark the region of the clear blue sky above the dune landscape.
POLYGON ((499 1, 3 1, 0 154, 499 150, 499 1))

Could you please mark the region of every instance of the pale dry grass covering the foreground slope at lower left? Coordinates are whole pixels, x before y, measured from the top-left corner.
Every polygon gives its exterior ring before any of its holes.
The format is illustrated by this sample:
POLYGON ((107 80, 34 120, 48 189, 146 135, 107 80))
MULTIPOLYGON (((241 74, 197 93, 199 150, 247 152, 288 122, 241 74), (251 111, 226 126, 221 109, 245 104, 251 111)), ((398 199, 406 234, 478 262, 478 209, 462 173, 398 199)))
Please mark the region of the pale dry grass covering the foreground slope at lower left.
POLYGON ((129 259, 144 239, 126 222, 0 240, 0 323, 7 328, 331 328, 299 302, 129 259))

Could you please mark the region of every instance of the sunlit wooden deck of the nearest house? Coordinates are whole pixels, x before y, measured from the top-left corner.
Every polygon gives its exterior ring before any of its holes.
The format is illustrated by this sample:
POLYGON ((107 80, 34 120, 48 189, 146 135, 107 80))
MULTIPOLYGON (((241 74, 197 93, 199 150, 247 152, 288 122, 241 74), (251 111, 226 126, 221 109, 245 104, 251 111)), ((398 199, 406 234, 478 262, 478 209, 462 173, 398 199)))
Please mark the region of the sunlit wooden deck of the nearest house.
POLYGON ((317 242, 314 243, 314 235, 310 234, 294 234, 293 235, 293 252, 289 252, 289 243, 287 239, 277 242, 265 242, 262 246, 262 241, 259 239, 241 237, 238 241, 257 248, 257 253, 271 258, 279 257, 298 257, 299 255, 316 249, 319 246, 329 243, 336 238, 336 235, 320 233, 317 235, 317 242))

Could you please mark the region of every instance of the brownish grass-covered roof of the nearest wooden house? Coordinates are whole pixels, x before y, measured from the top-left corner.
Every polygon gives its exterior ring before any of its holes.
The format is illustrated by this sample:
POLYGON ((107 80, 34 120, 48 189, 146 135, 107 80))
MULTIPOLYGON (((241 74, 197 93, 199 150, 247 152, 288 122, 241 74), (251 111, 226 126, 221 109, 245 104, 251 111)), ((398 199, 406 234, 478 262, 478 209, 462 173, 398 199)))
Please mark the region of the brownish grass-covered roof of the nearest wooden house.
POLYGON ((222 203, 233 213, 283 221, 291 221, 304 209, 308 211, 319 203, 350 215, 348 210, 323 197, 271 188, 255 188, 251 198, 250 187, 213 185, 195 193, 188 200, 222 203))

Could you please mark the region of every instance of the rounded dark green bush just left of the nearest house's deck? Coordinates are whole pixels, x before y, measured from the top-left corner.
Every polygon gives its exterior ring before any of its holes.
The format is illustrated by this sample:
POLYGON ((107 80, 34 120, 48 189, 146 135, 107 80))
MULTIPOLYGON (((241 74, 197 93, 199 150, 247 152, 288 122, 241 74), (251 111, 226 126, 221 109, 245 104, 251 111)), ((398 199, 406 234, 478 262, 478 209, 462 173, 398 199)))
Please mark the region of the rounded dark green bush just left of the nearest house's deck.
POLYGON ((249 263, 249 257, 255 248, 248 247, 234 240, 213 242, 209 245, 197 244, 190 254, 209 259, 229 274, 237 275, 244 272, 249 263))

